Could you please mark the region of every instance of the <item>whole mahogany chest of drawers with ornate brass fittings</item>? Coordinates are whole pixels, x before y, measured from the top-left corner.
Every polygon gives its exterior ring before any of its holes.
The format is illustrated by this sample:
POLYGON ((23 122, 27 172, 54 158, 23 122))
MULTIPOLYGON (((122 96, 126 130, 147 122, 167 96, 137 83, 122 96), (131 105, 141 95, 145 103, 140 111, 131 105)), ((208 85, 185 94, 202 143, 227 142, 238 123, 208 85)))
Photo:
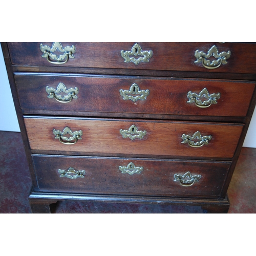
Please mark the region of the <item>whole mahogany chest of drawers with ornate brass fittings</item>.
POLYGON ((227 188, 255 107, 256 45, 9 42, 32 212, 61 200, 200 205, 227 188))

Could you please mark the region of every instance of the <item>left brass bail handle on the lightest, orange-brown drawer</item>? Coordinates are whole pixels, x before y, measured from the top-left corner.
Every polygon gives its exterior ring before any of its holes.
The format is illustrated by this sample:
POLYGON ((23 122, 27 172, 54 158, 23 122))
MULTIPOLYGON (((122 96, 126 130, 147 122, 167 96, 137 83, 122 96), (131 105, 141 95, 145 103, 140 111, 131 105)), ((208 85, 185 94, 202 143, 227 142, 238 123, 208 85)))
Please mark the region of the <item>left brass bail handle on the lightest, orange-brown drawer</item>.
POLYGON ((55 135, 54 139, 59 139, 59 141, 63 144, 67 144, 67 145, 72 145, 75 144, 77 142, 77 140, 81 140, 81 136, 82 136, 82 131, 75 131, 72 132, 70 127, 66 126, 63 129, 63 132, 60 132, 59 130, 55 130, 53 129, 53 134, 55 135), (72 137, 67 137, 67 136, 63 136, 66 134, 70 134, 72 135, 72 137))

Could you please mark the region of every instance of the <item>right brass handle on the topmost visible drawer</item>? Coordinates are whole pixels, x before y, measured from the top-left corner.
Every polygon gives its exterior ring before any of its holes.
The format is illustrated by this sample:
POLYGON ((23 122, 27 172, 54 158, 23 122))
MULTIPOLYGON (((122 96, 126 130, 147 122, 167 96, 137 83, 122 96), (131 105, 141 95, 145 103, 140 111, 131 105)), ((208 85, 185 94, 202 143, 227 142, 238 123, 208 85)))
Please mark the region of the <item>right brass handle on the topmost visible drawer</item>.
POLYGON ((195 57, 197 60, 195 61, 196 64, 201 63, 206 69, 217 69, 222 64, 227 64, 227 59, 230 57, 231 52, 221 52, 219 54, 219 51, 216 46, 212 46, 207 53, 200 52, 199 50, 196 50, 195 57), (210 61, 210 56, 214 56, 217 60, 210 61))

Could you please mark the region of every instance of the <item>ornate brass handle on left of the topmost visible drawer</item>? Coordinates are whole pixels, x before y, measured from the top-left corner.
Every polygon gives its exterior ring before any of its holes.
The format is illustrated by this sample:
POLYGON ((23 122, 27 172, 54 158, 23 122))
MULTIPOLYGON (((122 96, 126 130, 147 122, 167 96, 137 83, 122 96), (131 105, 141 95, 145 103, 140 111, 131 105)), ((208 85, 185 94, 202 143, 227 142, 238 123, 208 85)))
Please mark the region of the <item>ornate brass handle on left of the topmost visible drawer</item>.
POLYGON ((44 53, 42 55, 43 58, 46 58, 52 64, 65 64, 69 58, 74 58, 74 53, 76 51, 75 46, 66 46, 63 48, 60 42, 53 42, 52 48, 45 45, 40 44, 40 50, 44 53), (55 51, 60 51, 63 54, 56 55, 53 54, 55 51))

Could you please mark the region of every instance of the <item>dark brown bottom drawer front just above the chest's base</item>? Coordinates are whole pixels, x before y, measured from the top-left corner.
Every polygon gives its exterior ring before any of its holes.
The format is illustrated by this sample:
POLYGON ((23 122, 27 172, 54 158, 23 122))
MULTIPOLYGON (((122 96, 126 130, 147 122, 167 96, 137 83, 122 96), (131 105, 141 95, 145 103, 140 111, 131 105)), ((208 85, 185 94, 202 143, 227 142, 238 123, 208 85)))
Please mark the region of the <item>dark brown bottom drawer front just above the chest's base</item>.
POLYGON ((230 162, 217 161, 46 155, 32 159, 40 191, 94 194, 218 197, 230 167, 230 162))

